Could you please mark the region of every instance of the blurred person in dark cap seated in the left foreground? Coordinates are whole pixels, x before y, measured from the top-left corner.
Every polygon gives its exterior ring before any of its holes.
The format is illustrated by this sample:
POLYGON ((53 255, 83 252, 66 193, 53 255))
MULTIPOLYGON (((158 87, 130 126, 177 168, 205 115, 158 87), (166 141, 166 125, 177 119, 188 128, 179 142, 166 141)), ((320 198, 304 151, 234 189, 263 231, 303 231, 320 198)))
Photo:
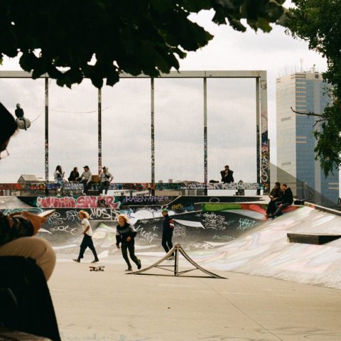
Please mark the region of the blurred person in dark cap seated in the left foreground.
MULTIPOLYGON (((11 136, 16 133, 17 124, 11 113, 0 102, 0 163, 9 156, 7 147, 11 136)), ((55 251, 53 251, 50 243, 43 238, 33 237, 46 221, 45 217, 33 215, 30 212, 16 212, 12 215, 4 215, 0 212, 0 259, 1 264, 12 266, 21 263, 21 257, 27 259, 27 263, 35 263, 37 266, 20 266, 18 269, 11 269, 13 276, 16 276, 16 282, 22 276, 23 290, 20 296, 16 296, 16 290, 11 291, 11 300, 17 300, 15 314, 16 319, 10 321, 11 329, 18 329, 22 332, 33 332, 35 335, 48 337, 53 341, 60 341, 57 321, 55 319, 55 311, 50 298, 48 286, 42 281, 48 281, 55 267, 55 251), (17 261, 13 263, 11 259, 3 256, 19 256, 15 258, 17 261), (41 269, 41 270, 40 270, 41 269), (25 274, 23 274, 25 271, 25 274), (48 320, 48 323, 46 322, 48 320)), ((1 280, 5 280, 6 287, 11 288, 11 278, 7 278, 6 274, 1 271, 1 280), (8 283, 6 282, 8 280, 8 283)), ((0 281, 3 284, 3 281, 0 281)), ((15 288, 21 290, 21 284, 16 283, 15 288)), ((6 313, 11 312, 11 307, 6 305, 6 296, 4 291, 1 294, 1 310, 6 313)), ((10 316, 10 315, 9 315, 10 316)), ((6 322, 0 321, 0 324, 6 322)))

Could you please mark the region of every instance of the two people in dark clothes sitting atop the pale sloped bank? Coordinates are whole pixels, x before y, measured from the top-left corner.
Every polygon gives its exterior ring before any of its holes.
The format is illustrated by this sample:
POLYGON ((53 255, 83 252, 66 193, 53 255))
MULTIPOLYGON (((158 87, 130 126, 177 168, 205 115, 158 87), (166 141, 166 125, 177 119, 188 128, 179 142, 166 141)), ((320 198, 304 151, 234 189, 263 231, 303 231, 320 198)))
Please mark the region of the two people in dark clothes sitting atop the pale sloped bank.
POLYGON ((284 208, 292 205, 293 203, 293 192, 286 183, 275 183, 274 188, 271 190, 270 202, 266 209, 266 218, 275 219, 278 215, 282 214, 284 208))

